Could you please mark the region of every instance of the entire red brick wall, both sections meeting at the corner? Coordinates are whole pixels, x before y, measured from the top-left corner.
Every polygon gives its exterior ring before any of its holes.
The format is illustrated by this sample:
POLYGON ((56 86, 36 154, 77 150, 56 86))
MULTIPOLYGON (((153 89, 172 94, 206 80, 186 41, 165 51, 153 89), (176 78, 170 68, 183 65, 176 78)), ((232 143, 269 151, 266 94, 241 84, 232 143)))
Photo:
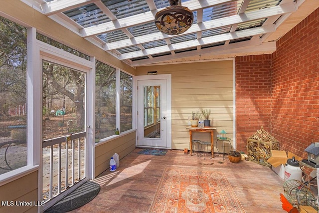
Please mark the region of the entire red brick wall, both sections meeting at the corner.
POLYGON ((303 158, 319 142, 319 9, 277 41, 271 55, 236 57, 236 143, 261 125, 303 158))

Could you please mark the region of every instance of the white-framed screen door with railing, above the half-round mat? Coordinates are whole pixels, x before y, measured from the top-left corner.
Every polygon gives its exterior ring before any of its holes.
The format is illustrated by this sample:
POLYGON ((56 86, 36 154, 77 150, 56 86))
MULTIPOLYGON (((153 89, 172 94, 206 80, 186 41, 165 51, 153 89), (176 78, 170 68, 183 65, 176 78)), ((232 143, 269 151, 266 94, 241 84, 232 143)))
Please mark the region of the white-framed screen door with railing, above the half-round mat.
POLYGON ((63 51, 50 54, 53 50, 41 50, 42 112, 46 112, 42 113, 41 119, 40 174, 44 202, 41 212, 44 212, 76 190, 91 175, 91 146, 87 137, 91 128, 87 127, 89 119, 86 112, 92 105, 87 101, 87 82, 88 75, 92 75, 90 68, 95 64, 63 51))

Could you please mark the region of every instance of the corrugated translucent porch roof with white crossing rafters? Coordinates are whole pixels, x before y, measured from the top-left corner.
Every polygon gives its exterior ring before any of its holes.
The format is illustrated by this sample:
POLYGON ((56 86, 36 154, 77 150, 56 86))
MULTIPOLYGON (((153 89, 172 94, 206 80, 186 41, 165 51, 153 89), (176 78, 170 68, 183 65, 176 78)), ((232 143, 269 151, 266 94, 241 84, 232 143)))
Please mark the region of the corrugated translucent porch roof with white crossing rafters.
MULTIPOLYGON (((131 55, 126 54, 123 57, 119 57, 126 58, 128 60, 130 60, 130 57, 134 56, 136 58, 133 58, 132 60, 149 58, 149 51, 142 52, 141 49, 152 49, 153 57, 171 54, 170 51, 162 53, 162 51, 168 50, 163 50, 164 48, 162 48, 167 45, 167 43, 172 44, 175 53, 194 50, 194 54, 197 54, 197 50, 199 50, 199 48, 209 48, 227 43, 225 40, 229 40, 229 37, 227 37, 225 33, 229 33, 234 30, 240 31, 259 27, 262 26, 266 20, 267 24, 276 23, 276 20, 274 20, 276 18, 267 19, 268 16, 274 16, 277 14, 280 16, 294 12, 293 7, 295 5, 295 2, 293 2, 294 0, 288 0, 287 2, 285 1, 281 6, 278 6, 278 4, 280 4, 282 0, 229 0, 225 3, 215 0, 207 0, 207 2, 203 2, 203 0, 180 1, 182 6, 187 6, 189 9, 193 10, 193 31, 189 31, 177 36, 166 36, 164 34, 161 36, 154 23, 154 18, 150 15, 150 9, 157 8, 158 11, 160 11, 170 6, 169 0, 87 0, 86 2, 43 0, 43 2, 48 2, 47 5, 45 5, 48 8, 46 9, 46 14, 48 16, 54 14, 55 12, 62 11, 62 14, 70 17, 70 20, 65 21, 65 26, 70 26, 70 29, 75 30, 76 32, 80 30, 80 33, 83 35, 83 37, 97 36, 108 44, 107 47, 109 48, 106 48, 107 51, 117 49, 117 54, 132 53, 131 55), (77 6, 77 8, 73 8, 74 6, 77 6), (99 6, 101 7, 99 8, 99 6), (149 6, 151 6, 151 8, 149 6), (243 6, 243 8, 241 8, 241 6, 243 6), (50 8, 52 8, 52 11, 50 11, 50 8), (55 11, 55 8, 59 11, 55 11), (105 11, 105 13, 103 11, 105 11), (245 13, 247 12, 251 12, 252 14, 248 15, 247 19, 241 18, 241 16, 237 16, 239 11, 242 13, 242 16, 245 16, 245 13), (260 14, 261 12, 263 14, 260 14), (201 16, 199 17, 198 15, 201 16), (133 19, 133 16, 136 18, 133 19), (256 19, 257 16, 258 19, 256 19), (110 20, 110 18, 112 20, 110 20), (132 19, 132 21, 123 20, 126 18, 132 19), (221 24, 219 26, 212 25, 209 22, 211 20, 220 18, 222 18, 224 21, 219 21, 221 24), (72 23, 72 20, 83 26, 85 29, 78 29, 81 27, 77 27, 75 23, 72 23), (197 24, 198 20, 202 23, 197 24), (243 22, 245 20, 247 21, 243 22), (107 24, 102 24, 106 22, 107 24), (156 36, 153 36, 154 33, 156 33, 156 36), (225 36, 223 36, 224 34, 225 36), (216 35, 219 35, 220 37, 216 43, 211 43, 213 41, 207 39, 216 35), (205 39, 196 40, 198 38, 205 39), (167 39, 169 39, 169 41, 167 39), (184 42, 189 43, 189 45, 179 45, 185 44, 184 42), (158 50, 159 52, 154 52, 153 49, 158 50), (135 54, 134 51, 138 51, 137 54, 135 54)), ((35 0, 33 5, 39 7, 39 2, 35 0)), ((41 6, 43 5, 41 4, 41 6)), ((152 12, 155 13, 156 11, 152 12)), ((285 16, 282 17, 283 19, 286 18, 285 16)), ((249 33, 247 33, 244 38, 234 37, 229 42, 235 43, 247 41, 253 36, 260 37, 261 35, 255 33, 255 31, 257 30, 251 30, 251 33, 247 31, 249 33)), ((265 32, 265 34, 269 33, 265 32)), ((92 41, 93 43, 96 42, 96 38, 88 40, 92 41)), ((98 41, 97 44, 101 47, 103 42, 98 41)), ((225 48, 227 49, 229 47, 225 48)), ((146 62, 146 60, 144 61, 146 62)))

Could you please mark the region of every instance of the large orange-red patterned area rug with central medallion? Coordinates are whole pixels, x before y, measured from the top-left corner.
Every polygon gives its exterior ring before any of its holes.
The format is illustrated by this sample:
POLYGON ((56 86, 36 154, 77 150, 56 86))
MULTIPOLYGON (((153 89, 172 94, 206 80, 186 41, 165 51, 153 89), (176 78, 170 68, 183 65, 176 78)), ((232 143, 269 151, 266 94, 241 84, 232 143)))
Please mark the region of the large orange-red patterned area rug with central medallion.
POLYGON ((245 213, 223 172, 165 168, 149 213, 245 213))

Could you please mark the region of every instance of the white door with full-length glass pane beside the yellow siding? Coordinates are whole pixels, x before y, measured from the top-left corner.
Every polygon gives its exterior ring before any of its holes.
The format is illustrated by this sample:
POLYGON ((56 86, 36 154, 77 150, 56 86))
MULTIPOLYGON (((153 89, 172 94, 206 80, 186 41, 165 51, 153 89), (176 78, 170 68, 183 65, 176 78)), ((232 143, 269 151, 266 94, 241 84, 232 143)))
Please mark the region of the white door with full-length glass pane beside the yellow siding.
POLYGON ((138 80, 137 120, 137 147, 171 148, 170 80, 138 80))

